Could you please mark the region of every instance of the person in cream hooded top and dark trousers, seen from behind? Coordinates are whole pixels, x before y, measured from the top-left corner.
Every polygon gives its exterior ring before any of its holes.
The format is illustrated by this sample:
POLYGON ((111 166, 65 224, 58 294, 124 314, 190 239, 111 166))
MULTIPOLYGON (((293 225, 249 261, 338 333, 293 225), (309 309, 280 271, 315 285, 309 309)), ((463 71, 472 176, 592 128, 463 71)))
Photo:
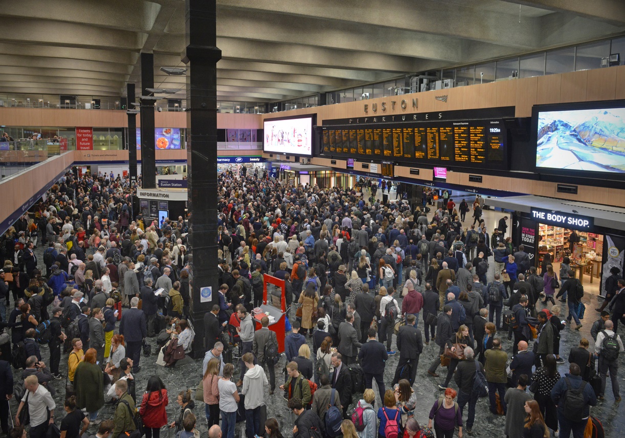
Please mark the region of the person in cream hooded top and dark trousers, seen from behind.
POLYGON ((264 387, 269 386, 264 369, 260 365, 254 365, 254 354, 243 354, 243 363, 246 372, 243 376, 241 394, 245 396, 245 430, 247 438, 262 435, 261 407, 264 406, 264 387))

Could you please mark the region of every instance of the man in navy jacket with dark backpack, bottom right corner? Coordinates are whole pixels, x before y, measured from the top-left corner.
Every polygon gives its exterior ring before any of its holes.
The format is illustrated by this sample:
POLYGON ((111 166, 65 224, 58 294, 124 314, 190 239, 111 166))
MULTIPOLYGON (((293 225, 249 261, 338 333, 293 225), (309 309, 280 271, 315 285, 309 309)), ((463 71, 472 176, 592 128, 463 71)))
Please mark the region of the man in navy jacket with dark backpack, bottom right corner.
POLYGON ((588 416, 590 415, 590 407, 596 406, 597 397, 594 394, 592 386, 582 380, 579 375, 579 365, 572 363, 569 365, 569 373, 564 374, 554 387, 551 389, 551 399, 557 406, 557 421, 560 424, 560 437, 569 438, 571 432, 573 432, 573 438, 584 438, 584 429, 588 422, 588 416), (564 409, 567 391, 571 389, 577 389, 584 386, 582 395, 584 397, 584 408, 579 415, 579 421, 570 419, 570 412, 566 412, 564 409), (568 414, 568 415, 567 415, 568 414))

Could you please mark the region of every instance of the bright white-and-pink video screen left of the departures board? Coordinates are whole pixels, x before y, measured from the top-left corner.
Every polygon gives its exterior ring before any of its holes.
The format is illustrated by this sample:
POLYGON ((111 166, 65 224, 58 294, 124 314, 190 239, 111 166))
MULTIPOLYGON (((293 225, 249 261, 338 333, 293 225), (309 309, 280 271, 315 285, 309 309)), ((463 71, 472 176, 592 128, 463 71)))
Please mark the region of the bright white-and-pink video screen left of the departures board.
POLYGON ((264 121, 264 152, 312 156, 312 117, 264 121))

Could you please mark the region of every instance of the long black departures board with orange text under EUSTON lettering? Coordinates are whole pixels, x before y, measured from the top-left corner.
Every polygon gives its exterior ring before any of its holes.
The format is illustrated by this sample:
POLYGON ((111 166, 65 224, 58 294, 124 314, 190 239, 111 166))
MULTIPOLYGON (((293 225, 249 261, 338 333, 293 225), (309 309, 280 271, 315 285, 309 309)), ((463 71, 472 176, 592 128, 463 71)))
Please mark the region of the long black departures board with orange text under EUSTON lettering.
POLYGON ((507 170, 507 130, 501 119, 329 125, 324 155, 507 170))

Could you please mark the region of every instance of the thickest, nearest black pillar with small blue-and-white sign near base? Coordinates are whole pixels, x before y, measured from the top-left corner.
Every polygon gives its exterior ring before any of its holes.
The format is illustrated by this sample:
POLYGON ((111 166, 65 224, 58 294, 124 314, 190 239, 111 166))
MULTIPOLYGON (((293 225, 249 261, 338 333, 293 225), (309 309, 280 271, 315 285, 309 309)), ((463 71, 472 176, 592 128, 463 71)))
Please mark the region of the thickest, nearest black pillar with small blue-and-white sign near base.
POLYGON ((216 1, 187 0, 187 170, 191 212, 193 353, 203 356, 204 314, 219 303, 217 294, 217 49, 216 1), (212 288, 211 299, 202 288, 212 288))

